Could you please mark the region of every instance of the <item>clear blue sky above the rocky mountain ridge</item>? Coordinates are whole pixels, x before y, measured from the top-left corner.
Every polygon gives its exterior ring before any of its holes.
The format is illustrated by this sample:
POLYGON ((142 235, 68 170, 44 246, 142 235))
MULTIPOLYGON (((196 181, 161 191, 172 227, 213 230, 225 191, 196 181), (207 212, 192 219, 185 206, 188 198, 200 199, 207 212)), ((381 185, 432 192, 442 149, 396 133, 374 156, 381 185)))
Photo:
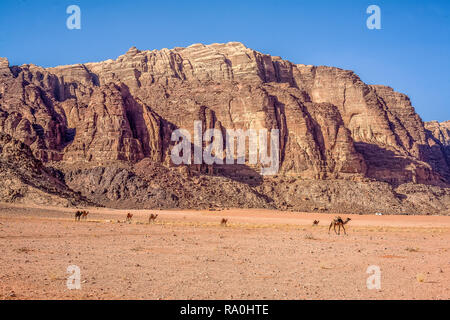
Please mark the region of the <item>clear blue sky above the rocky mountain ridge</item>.
POLYGON ((240 41, 294 63, 354 70, 410 96, 424 121, 450 120, 449 0, 1 0, 0 56, 44 67, 139 49, 240 41), (69 5, 81 30, 66 27, 69 5), (381 30, 369 30, 369 5, 381 30))

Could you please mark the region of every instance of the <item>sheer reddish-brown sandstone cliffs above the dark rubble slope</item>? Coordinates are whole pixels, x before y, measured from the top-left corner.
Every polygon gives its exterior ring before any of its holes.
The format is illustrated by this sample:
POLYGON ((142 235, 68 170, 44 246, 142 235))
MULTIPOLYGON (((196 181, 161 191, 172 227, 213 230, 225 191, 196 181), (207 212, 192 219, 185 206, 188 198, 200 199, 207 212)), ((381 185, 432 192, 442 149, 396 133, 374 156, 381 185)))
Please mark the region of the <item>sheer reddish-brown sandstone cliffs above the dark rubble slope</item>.
MULTIPOLYGON (((119 163, 132 171, 143 160, 170 167, 173 130, 192 134, 196 120, 222 132, 279 129, 281 176, 393 186, 450 182, 442 138, 448 130, 425 128, 407 96, 367 85, 352 71, 296 65, 235 42, 133 47, 116 60, 47 69, 0 60, 0 131, 49 165, 69 172, 83 164, 87 171, 70 173, 70 181, 87 172, 103 176, 89 170, 119 163)), ((242 180, 253 169, 199 171, 242 180)), ((270 197, 264 190, 258 194, 270 197)))

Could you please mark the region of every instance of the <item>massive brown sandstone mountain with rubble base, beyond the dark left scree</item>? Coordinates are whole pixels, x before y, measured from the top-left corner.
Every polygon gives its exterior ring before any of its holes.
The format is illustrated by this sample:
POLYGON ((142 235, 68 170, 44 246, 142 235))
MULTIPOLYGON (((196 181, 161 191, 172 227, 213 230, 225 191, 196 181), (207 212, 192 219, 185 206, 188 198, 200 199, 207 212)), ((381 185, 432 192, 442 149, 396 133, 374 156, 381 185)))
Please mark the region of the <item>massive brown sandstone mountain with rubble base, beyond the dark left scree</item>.
POLYGON ((140 51, 55 68, 0 58, 0 132, 115 207, 439 213, 450 206, 448 123, 352 71, 241 43, 140 51), (176 166, 175 129, 278 129, 280 169, 176 166), (447 131, 446 131, 447 130, 447 131))

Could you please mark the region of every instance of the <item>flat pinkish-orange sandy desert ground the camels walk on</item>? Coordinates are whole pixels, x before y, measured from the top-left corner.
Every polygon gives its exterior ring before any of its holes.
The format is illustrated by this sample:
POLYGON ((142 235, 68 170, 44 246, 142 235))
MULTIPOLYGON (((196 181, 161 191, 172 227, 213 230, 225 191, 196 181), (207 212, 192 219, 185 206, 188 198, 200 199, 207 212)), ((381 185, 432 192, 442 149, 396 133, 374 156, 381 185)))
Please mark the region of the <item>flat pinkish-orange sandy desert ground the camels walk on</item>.
POLYGON ((449 216, 343 215, 338 236, 332 214, 91 208, 75 222, 74 211, 0 204, 0 299, 450 298, 449 216), (366 285, 372 265, 380 290, 366 285))

